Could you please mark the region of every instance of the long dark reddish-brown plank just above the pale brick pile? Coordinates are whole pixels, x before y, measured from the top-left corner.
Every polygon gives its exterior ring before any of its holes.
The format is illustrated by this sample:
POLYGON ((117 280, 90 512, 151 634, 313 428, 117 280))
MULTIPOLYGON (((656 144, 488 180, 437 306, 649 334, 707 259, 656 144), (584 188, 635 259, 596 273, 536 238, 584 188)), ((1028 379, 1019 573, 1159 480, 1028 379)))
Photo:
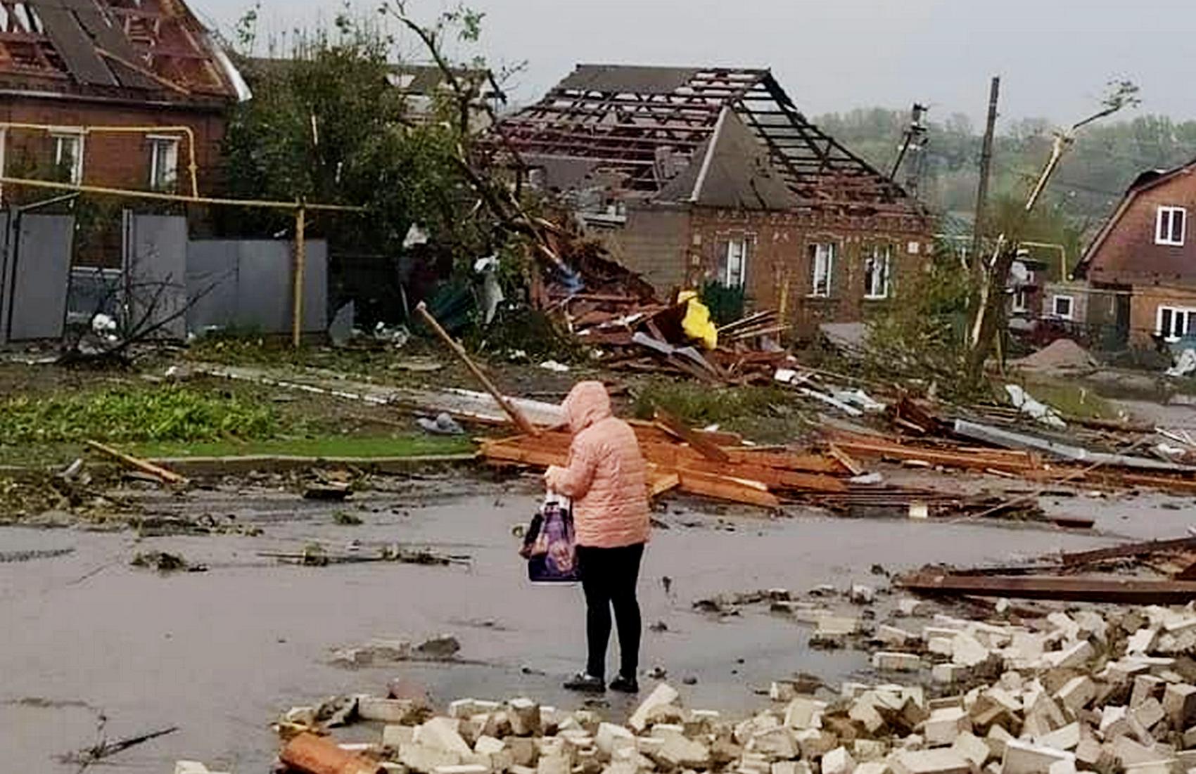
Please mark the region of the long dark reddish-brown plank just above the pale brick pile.
POLYGON ((897 584, 928 595, 1001 596, 1066 602, 1124 604, 1183 604, 1196 600, 1194 580, 1057 576, 960 576, 922 572, 898 578, 897 584))

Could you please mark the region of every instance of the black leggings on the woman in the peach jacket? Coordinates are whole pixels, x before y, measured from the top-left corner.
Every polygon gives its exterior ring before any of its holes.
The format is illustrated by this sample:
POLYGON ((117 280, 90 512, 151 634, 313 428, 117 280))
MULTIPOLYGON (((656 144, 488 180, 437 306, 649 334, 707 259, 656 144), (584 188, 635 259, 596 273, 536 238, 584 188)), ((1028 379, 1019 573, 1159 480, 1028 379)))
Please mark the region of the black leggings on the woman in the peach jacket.
POLYGON ((622 548, 578 546, 581 589, 586 594, 586 672, 605 680, 606 644, 610 641, 610 609, 618 626, 620 674, 635 677, 640 665, 640 603, 635 584, 640 579, 643 543, 622 548))

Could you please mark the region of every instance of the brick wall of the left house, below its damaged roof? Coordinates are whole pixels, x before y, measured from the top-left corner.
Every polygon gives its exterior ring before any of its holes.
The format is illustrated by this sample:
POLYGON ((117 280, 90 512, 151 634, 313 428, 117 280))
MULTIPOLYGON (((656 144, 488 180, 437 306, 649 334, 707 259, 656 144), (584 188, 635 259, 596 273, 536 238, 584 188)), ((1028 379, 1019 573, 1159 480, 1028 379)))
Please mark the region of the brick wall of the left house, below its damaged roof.
MULTIPOLYGON (((103 104, 68 100, 5 98, 0 100, 0 122, 24 123, 77 129, 83 127, 190 127, 195 133, 195 156, 199 166, 201 194, 213 194, 221 178, 221 142, 225 133, 224 113, 215 110, 185 108, 155 108, 126 104, 103 104)), ((146 133, 147 134, 147 133, 146 133)), ((83 179, 89 185, 145 190, 150 188, 151 142, 146 134, 111 134, 94 131, 84 140, 83 179)), ((179 136, 181 189, 189 189, 189 148, 182 133, 160 131, 164 136, 179 136), (182 188, 183 185, 187 188, 182 188)), ((53 140, 36 129, 6 130, 6 173, 44 174, 53 166, 53 140)))

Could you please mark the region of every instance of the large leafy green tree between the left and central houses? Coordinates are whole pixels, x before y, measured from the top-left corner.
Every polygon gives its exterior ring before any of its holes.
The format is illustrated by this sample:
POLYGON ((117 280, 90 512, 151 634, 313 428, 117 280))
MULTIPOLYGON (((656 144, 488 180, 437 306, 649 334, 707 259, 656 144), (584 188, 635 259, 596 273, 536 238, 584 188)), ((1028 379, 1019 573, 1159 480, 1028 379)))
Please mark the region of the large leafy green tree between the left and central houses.
MULTIPOLYGON (((450 23, 474 39, 480 18, 450 23)), ((256 39, 252 17, 237 39, 256 39)), ((365 215, 313 214, 313 233, 342 250, 393 259, 419 225, 439 254, 464 266, 500 250, 505 235, 477 207, 459 161, 468 125, 451 119, 451 99, 431 117, 413 113, 395 85, 396 48, 378 24, 341 16, 332 30, 303 36, 288 59, 242 57, 254 98, 230 122, 226 180, 244 198, 364 205, 365 215)), ((285 213, 236 217, 262 233, 291 227, 285 213)))

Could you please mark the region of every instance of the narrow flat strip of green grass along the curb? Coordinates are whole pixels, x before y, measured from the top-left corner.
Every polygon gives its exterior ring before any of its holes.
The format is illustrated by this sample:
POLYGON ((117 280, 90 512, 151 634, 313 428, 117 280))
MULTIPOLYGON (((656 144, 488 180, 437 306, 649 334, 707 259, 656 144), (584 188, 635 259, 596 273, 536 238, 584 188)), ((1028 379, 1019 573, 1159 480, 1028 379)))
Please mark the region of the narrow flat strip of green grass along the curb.
POLYGON ((184 456, 311 456, 311 457, 401 457, 469 454, 474 443, 464 436, 324 436, 274 438, 268 441, 203 441, 197 443, 154 442, 122 447, 145 457, 184 456))

